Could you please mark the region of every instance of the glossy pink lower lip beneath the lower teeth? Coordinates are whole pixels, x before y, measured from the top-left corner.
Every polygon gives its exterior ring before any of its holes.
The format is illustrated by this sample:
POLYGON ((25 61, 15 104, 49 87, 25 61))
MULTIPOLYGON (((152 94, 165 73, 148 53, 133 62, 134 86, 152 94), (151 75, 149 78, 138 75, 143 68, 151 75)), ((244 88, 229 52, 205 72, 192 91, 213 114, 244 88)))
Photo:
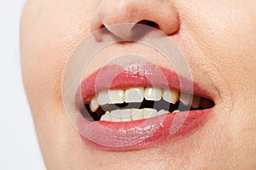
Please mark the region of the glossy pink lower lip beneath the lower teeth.
POLYGON ((134 122, 89 122, 79 116, 79 132, 86 144, 99 150, 140 150, 192 133, 207 121, 212 110, 183 111, 134 122))

